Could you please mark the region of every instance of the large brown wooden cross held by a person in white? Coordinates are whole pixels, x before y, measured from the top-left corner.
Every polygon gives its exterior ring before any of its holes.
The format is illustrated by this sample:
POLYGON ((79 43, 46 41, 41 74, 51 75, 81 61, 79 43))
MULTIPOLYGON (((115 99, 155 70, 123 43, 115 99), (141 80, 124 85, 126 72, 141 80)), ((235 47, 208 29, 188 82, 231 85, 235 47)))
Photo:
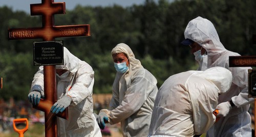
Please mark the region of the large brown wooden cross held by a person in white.
MULTIPOLYGON (((65 14, 65 2, 54 3, 54 0, 42 0, 41 4, 30 5, 31 16, 42 16, 41 28, 8 29, 8 40, 42 39, 52 41, 54 38, 90 36, 90 25, 62 25, 54 26, 54 14, 65 14)), ((54 65, 44 66, 44 90, 45 99, 41 99, 37 106, 33 106, 45 112, 46 136, 57 136, 57 120, 50 113, 52 105, 57 101, 56 93, 56 70, 54 65)), ((58 117, 67 118, 66 112, 58 117)))

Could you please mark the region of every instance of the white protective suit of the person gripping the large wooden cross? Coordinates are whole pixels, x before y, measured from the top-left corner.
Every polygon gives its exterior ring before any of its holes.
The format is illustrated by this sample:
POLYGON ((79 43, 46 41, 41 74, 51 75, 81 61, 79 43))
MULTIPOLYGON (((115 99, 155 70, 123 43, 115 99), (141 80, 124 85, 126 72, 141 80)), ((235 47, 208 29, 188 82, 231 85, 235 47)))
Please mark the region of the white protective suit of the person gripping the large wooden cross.
MULTIPOLYGON (((93 115, 93 85, 94 71, 84 61, 75 57, 63 48, 64 65, 57 65, 56 69, 66 69, 70 73, 62 78, 56 77, 57 97, 64 95, 72 97, 68 106, 69 119, 57 118, 57 132, 59 137, 65 136, 101 136, 100 128, 93 115)), ((34 85, 40 85, 41 95, 44 96, 44 67, 40 66, 34 75, 31 91, 34 85)), ((57 75, 58 76, 58 75, 57 75)))

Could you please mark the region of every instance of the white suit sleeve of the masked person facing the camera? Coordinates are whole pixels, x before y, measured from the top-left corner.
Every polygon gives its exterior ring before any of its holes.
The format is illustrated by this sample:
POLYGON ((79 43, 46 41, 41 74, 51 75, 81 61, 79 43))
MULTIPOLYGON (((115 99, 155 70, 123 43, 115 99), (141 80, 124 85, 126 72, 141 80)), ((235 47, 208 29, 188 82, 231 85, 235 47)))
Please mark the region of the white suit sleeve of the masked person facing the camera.
POLYGON ((155 88, 142 76, 136 76, 131 81, 131 87, 127 88, 122 102, 109 114, 110 124, 116 124, 137 112, 146 101, 149 92, 155 88))

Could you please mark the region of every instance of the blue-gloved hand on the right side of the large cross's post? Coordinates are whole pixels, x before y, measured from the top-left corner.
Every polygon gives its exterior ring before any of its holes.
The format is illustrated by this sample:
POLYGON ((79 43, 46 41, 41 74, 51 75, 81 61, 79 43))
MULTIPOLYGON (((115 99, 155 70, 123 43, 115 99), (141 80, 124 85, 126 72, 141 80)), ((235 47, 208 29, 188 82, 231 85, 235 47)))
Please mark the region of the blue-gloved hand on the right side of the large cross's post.
POLYGON ((51 108, 51 112, 58 114, 59 112, 63 112, 66 107, 70 105, 72 98, 70 96, 63 96, 57 102, 55 102, 51 108))

